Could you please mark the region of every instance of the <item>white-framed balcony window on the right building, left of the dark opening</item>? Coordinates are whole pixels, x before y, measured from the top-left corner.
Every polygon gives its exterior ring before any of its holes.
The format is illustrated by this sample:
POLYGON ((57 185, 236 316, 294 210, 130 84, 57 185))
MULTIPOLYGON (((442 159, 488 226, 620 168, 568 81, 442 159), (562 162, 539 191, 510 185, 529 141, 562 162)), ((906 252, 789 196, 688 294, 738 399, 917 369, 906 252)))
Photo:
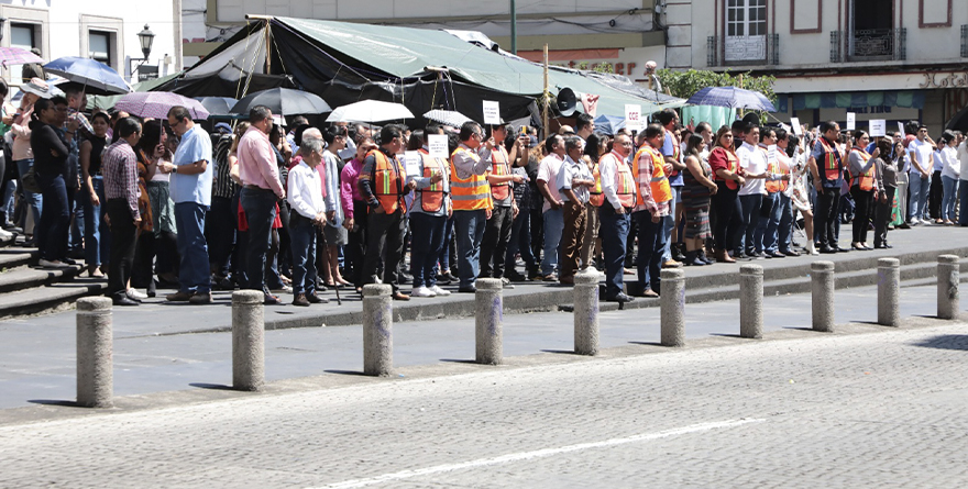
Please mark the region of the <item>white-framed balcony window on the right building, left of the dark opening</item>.
POLYGON ((767 59, 767 0, 726 0, 727 62, 767 59))

